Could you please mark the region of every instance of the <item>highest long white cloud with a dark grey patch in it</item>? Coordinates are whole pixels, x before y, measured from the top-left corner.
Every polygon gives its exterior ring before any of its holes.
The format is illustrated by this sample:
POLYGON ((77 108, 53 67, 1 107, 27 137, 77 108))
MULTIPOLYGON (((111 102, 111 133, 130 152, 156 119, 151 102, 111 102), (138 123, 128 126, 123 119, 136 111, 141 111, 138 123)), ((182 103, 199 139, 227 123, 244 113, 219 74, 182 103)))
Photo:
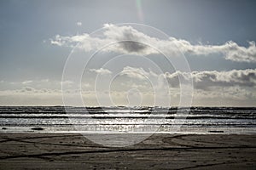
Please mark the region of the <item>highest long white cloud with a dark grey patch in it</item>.
POLYGON ((149 37, 131 26, 104 25, 104 28, 102 37, 95 37, 89 34, 71 37, 56 35, 55 38, 50 39, 50 42, 65 47, 74 47, 79 43, 78 47, 85 51, 99 49, 109 43, 116 42, 102 50, 138 55, 159 54, 158 50, 171 56, 178 54, 179 51, 189 55, 221 54, 224 59, 236 62, 256 62, 255 42, 248 42, 248 47, 239 46, 232 41, 225 42, 222 45, 191 44, 189 41, 175 37, 169 37, 166 40, 149 37))

